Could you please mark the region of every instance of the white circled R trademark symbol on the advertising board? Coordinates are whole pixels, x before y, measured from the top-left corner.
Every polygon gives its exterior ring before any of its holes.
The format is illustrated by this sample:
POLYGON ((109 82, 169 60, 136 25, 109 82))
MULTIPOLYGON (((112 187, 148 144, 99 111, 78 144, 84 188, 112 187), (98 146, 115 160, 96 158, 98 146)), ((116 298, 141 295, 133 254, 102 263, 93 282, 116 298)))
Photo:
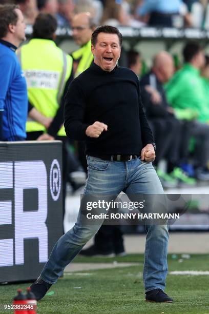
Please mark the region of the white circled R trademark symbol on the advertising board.
POLYGON ((57 201, 61 190, 61 171, 57 159, 52 162, 49 181, 52 199, 57 201))

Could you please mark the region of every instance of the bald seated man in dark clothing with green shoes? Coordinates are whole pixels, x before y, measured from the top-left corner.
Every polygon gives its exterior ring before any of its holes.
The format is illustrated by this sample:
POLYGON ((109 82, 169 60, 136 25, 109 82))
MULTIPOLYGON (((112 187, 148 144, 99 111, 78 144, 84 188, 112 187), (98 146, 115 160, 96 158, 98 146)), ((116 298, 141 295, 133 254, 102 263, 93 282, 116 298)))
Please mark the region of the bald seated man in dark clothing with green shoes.
POLYGON ((140 80, 142 102, 155 134, 155 165, 158 166, 162 159, 168 162, 169 174, 157 169, 164 187, 174 187, 178 182, 187 185, 196 183, 195 179, 189 178, 179 168, 181 159, 187 157, 189 135, 183 123, 176 119, 163 88, 163 84, 169 81, 173 72, 172 56, 161 51, 155 56, 151 71, 140 80))

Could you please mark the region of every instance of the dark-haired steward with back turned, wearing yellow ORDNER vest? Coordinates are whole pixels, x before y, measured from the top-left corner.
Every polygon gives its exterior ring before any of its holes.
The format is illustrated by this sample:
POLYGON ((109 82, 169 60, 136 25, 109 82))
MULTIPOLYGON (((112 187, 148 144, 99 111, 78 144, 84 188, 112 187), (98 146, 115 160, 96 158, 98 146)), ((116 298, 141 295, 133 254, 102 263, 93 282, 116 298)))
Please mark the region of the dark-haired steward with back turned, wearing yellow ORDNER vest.
POLYGON ((55 17, 51 14, 40 13, 33 25, 32 39, 19 49, 17 56, 25 73, 31 109, 29 109, 29 119, 26 124, 27 140, 58 139, 62 141, 64 168, 62 186, 65 208, 68 139, 63 127, 64 95, 69 83, 73 80, 73 60, 54 43, 56 28, 55 17), (33 111, 35 114, 32 114, 33 111), (38 114, 48 119, 48 125, 39 123, 41 120, 37 119, 38 114))

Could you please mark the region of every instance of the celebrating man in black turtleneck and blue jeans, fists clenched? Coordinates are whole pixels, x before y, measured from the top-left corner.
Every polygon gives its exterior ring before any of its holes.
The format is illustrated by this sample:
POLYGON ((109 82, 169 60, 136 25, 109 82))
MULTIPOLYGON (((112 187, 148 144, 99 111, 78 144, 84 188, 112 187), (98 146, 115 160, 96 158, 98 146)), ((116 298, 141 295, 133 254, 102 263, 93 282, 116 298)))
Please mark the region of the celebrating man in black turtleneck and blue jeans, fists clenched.
MULTIPOLYGON (((138 194, 163 193, 152 166, 155 143, 143 112, 138 78, 131 70, 116 66, 121 43, 117 28, 98 27, 92 34, 94 63, 75 78, 66 95, 66 133, 86 141, 88 179, 83 193, 89 200, 93 195, 102 199, 121 191, 130 200, 138 194)), ((83 221, 83 214, 89 210, 82 207, 83 199, 75 226, 57 241, 40 277, 31 286, 37 300, 45 296, 102 224, 102 220, 83 221)), ((146 229, 145 299, 173 302, 163 291, 168 273, 168 226, 149 223, 146 229)))

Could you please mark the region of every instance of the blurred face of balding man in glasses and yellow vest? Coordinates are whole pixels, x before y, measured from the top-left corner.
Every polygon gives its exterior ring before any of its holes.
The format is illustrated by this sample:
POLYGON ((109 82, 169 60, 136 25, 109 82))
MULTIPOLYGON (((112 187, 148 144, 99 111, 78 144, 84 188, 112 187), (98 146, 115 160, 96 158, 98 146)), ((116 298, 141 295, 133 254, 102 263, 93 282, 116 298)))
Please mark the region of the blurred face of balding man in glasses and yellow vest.
POLYGON ((73 39, 78 46, 83 46, 87 44, 92 35, 92 29, 89 25, 88 17, 75 17, 71 23, 73 31, 73 39))

